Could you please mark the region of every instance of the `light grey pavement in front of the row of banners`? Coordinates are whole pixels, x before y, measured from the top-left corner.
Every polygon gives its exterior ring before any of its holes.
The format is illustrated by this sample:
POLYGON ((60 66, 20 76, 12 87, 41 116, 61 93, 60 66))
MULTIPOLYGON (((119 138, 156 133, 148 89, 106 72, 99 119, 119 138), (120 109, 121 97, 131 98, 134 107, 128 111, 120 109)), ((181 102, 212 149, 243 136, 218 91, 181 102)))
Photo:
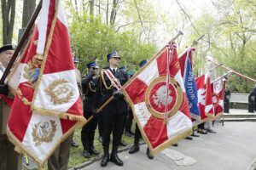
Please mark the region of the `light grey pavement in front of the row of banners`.
POLYGON ((101 167, 101 161, 92 162, 83 170, 247 170, 256 158, 256 123, 225 122, 224 126, 213 127, 217 133, 201 134, 193 140, 183 139, 178 147, 170 147, 149 160, 146 156, 147 146, 133 155, 128 151, 119 153, 124 161, 123 167, 108 162, 101 167))

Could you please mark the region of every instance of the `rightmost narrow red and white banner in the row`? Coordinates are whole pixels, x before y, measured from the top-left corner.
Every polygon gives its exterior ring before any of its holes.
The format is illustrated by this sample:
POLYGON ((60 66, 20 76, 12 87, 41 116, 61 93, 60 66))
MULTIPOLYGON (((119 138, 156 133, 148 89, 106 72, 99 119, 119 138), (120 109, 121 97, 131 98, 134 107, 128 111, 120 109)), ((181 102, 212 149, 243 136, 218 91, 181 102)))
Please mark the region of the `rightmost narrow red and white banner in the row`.
POLYGON ((220 116, 224 111, 224 78, 219 78, 211 83, 212 103, 215 116, 220 116))

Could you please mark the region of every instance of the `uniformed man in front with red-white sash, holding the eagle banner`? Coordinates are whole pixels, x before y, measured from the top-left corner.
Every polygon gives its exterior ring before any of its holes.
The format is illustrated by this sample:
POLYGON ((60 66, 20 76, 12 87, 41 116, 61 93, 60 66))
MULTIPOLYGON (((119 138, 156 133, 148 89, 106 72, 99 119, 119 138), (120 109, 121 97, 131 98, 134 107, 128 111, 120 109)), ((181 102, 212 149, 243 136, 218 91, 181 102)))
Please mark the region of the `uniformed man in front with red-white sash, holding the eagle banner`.
MULTIPOLYGON (((124 85, 128 81, 128 75, 124 71, 119 71, 119 61, 120 57, 117 52, 113 52, 107 55, 109 67, 105 70, 112 71, 113 76, 117 78, 121 85, 124 85)), ((100 80, 96 88, 95 96, 95 108, 98 108, 102 103, 108 100, 111 96, 114 99, 103 109, 102 111, 102 122, 103 122, 103 150, 104 156, 101 161, 101 166, 105 167, 108 161, 112 161, 118 166, 123 166, 124 163, 119 159, 117 155, 118 146, 122 136, 122 131, 125 122, 125 113, 127 111, 127 103, 124 99, 123 94, 114 88, 111 79, 101 71, 100 80), (102 99, 102 102, 101 102, 102 99), (112 153, 109 157, 109 143, 110 134, 113 132, 113 144, 112 153)))

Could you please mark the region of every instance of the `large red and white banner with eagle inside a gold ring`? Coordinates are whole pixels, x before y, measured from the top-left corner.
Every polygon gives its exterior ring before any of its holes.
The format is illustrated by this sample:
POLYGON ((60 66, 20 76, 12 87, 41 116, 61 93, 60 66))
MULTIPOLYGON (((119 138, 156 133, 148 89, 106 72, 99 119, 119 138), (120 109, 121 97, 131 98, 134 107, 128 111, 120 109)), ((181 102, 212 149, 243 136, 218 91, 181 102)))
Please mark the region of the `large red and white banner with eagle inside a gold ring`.
POLYGON ((131 77, 124 94, 153 155, 192 133, 174 42, 131 77))

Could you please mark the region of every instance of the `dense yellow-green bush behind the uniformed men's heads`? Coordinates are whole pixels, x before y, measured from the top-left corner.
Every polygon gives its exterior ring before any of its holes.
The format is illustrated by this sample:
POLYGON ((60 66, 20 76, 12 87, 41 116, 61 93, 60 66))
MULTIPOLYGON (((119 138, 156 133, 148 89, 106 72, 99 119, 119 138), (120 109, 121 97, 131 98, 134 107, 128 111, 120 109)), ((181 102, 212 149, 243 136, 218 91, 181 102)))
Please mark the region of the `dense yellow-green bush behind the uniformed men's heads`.
POLYGON ((139 42, 137 32, 115 32, 114 27, 104 24, 101 17, 95 17, 91 22, 86 13, 72 12, 69 31, 73 48, 79 55, 79 69, 83 73, 85 65, 92 60, 96 60, 101 68, 107 66, 107 54, 114 50, 121 57, 119 66, 126 65, 128 70, 136 70, 142 59, 149 59, 156 52, 154 44, 139 42))

